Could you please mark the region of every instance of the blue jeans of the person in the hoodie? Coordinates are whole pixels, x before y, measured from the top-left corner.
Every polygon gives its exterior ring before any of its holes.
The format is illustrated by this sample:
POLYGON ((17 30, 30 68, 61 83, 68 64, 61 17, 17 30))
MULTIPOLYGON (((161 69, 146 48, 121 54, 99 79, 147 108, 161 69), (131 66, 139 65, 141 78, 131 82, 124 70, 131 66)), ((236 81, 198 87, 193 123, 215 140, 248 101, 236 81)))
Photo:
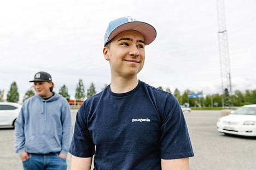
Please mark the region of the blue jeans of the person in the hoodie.
POLYGON ((67 169, 66 159, 59 157, 59 154, 29 154, 30 158, 22 162, 25 170, 65 170, 67 169))

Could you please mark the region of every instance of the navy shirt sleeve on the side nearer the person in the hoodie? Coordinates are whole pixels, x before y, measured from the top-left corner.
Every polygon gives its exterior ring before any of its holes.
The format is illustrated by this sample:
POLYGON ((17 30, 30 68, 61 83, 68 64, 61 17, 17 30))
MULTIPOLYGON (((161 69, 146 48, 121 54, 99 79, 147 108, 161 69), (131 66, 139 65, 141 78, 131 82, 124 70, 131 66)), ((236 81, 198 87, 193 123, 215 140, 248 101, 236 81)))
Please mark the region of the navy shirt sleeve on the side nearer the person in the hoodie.
POLYGON ((84 105, 85 103, 77 112, 69 153, 77 157, 92 157, 95 153, 95 145, 88 130, 84 105))

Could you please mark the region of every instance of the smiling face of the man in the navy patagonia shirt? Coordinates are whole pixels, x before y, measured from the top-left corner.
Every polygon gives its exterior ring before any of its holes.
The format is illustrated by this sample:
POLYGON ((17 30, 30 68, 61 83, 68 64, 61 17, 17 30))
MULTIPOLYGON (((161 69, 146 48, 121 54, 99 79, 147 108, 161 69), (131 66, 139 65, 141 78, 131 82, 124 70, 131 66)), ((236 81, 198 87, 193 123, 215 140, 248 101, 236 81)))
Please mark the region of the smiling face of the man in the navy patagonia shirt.
POLYGON ((112 76, 133 77, 143 68, 145 59, 144 37, 137 31, 124 31, 118 34, 103 48, 109 60, 112 76))

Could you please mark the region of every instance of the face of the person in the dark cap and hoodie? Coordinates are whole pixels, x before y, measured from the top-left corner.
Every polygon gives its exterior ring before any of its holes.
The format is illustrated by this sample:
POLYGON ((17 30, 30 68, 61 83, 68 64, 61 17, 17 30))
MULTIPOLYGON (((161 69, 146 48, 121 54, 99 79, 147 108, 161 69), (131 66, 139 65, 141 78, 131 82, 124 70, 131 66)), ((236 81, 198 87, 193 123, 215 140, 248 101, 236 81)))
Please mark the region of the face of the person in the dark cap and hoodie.
POLYGON ((50 87, 53 86, 53 83, 46 81, 35 81, 34 82, 34 90, 36 90, 37 94, 42 98, 45 98, 50 93, 50 87))

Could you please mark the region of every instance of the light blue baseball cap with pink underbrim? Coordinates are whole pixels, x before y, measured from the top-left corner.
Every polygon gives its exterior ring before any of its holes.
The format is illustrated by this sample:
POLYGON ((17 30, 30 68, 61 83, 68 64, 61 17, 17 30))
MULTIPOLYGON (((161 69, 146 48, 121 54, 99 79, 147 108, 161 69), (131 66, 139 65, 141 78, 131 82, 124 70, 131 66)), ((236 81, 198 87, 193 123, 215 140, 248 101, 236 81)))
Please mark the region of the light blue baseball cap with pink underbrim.
POLYGON ((137 21, 131 16, 120 17, 109 22, 104 36, 104 46, 119 33, 126 30, 135 30, 141 33, 144 37, 145 45, 152 43, 156 37, 156 30, 149 23, 137 21))

